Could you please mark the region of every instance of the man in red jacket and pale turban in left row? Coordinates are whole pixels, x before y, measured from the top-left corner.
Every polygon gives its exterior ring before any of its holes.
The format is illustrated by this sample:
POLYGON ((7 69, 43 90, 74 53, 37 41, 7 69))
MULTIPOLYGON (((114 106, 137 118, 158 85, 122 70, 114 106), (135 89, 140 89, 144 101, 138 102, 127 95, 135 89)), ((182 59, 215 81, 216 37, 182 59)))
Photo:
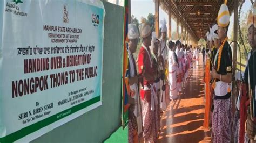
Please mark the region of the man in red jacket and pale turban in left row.
POLYGON ((154 103, 157 100, 154 98, 155 93, 152 89, 156 78, 149 48, 152 39, 151 28, 143 21, 140 25, 140 32, 143 43, 138 55, 138 69, 142 77, 140 96, 142 98, 143 137, 145 142, 154 142, 157 138, 154 103))

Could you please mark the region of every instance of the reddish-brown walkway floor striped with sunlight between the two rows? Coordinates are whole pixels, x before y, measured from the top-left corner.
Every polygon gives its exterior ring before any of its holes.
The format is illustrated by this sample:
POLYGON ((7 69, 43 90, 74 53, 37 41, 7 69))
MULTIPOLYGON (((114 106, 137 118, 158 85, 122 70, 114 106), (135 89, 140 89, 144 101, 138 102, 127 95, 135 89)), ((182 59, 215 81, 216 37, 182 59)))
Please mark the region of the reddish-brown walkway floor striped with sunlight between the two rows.
POLYGON ((204 130, 204 67, 200 55, 199 66, 190 70, 183 94, 169 103, 161 118, 158 142, 210 142, 211 133, 204 130), (189 139, 189 140, 188 140, 189 139))

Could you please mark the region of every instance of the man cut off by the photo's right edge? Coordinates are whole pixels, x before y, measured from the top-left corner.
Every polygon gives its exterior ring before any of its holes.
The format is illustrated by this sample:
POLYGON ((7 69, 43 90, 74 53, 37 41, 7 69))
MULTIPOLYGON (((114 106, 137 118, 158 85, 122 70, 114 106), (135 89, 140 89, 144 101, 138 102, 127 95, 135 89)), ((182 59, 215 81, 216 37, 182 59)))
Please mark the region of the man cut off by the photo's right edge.
MULTIPOLYGON (((248 110, 248 115, 247 115, 247 120, 245 121, 245 128, 246 128, 246 137, 245 137, 245 141, 246 138, 250 138, 252 142, 256 142, 256 122, 255 122, 255 116, 256 116, 256 108, 255 108, 255 89, 256 89, 256 75, 255 75, 255 71, 256 71, 256 3, 254 2, 253 5, 253 14, 250 13, 248 16, 248 23, 247 23, 247 30, 248 30, 248 42, 251 46, 251 52, 248 55, 247 58, 247 65, 246 65, 246 69, 245 69, 245 76, 244 76, 244 80, 245 80, 245 84, 246 84, 246 90, 247 92, 250 92, 251 94, 251 100, 249 103, 252 104, 252 109, 250 110, 249 106, 247 107, 248 110), (253 117, 253 119, 251 119, 251 117, 253 117)), ((242 95, 243 97, 243 95, 242 95)), ((249 98, 249 96, 247 95, 247 98, 249 98)), ((240 101, 242 102, 242 100, 240 101)), ((247 101, 248 102, 248 101, 247 101)), ((240 110, 241 110, 241 105, 240 104, 240 110)), ((240 114, 241 115, 241 114, 240 114)), ((244 118, 244 117, 241 117, 244 118)), ((240 120, 241 121, 241 120, 240 120)), ((240 130, 241 130, 241 126, 242 126, 242 121, 240 123, 240 130)), ((240 136, 241 136, 241 132, 240 131, 240 136)), ((240 137, 239 137, 240 138, 240 137)), ((241 140, 241 138, 239 139, 241 140)))

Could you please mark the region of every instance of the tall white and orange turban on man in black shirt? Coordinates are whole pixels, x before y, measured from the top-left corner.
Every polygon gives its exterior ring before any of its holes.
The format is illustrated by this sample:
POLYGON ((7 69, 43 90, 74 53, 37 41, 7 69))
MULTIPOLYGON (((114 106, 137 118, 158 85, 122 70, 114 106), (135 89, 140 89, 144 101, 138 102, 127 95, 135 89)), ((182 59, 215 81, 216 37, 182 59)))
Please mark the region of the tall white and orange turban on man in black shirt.
POLYGON ((224 4, 221 4, 217 20, 218 25, 221 27, 227 27, 227 25, 230 24, 230 11, 227 7, 227 0, 225 0, 224 4))

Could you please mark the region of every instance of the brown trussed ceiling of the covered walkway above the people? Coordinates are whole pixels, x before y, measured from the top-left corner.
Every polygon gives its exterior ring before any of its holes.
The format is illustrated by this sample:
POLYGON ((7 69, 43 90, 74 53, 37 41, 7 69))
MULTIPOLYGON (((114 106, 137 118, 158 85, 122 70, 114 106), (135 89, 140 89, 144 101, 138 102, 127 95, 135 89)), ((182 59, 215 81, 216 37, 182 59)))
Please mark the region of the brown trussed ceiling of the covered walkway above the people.
MULTIPOLYGON (((189 27, 198 40, 204 38, 209 31, 208 27, 216 22, 220 5, 223 3, 224 0, 159 0, 160 8, 166 13, 171 4, 172 18, 176 20, 178 13, 179 23, 189 27)), ((227 6, 231 14, 234 7, 233 0, 228 0, 227 6)))

